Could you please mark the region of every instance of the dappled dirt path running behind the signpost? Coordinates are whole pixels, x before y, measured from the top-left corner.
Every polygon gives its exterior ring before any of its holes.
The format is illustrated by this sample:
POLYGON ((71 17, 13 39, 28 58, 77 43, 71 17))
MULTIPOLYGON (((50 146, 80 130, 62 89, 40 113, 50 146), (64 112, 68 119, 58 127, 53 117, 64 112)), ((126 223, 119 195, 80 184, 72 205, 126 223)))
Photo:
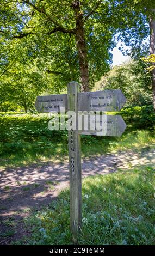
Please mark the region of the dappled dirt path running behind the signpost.
MULTIPOLYGON (((155 167, 155 149, 142 148, 138 153, 119 152, 84 160, 82 176, 140 166, 155 167)), ((27 234, 23 228, 24 217, 56 199, 59 191, 69 186, 69 165, 42 164, 0 170, 0 179, 0 244, 8 244, 27 234)))

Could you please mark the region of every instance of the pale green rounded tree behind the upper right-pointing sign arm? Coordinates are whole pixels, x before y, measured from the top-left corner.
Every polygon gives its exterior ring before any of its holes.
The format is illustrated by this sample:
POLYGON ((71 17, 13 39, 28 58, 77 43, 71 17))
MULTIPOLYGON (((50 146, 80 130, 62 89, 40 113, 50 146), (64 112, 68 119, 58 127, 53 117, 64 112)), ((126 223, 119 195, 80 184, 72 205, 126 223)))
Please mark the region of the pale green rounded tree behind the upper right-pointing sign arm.
POLYGON ((146 64, 141 60, 130 60, 114 66, 101 81, 96 83, 98 90, 121 89, 127 97, 126 106, 143 106, 152 103, 151 76, 146 64))

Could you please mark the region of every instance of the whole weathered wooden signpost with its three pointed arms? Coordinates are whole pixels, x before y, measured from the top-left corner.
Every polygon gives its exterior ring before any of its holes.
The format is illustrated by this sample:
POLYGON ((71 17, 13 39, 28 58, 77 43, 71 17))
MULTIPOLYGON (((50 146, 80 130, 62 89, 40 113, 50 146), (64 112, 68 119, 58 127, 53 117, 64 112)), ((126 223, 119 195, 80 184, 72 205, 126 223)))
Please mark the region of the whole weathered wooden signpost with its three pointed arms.
MULTIPOLYGON (((101 115, 97 119, 97 113, 94 122, 94 129, 90 129, 91 112, 100 111, 120 111, 126 103, 126 97, 121 90, 104 90, 98 92, 80 93, 79 84, 71 82, 67 85, 67 94, 38 96, 35 101, 35 107, 38 112, 60 112, 60 107, 65 108, 65 112, 72 111, 76 117, 76 129, 69 129, 69 162, 70 162, 70 227, 73 235, 73 241, 78 243, 79 230, 82 227, 82 175, 81 175, 81 150, 80 135, 98 135, 98 136, 121 136, 126 129, 126 123, 121 115, 101 115), (83 115, 89 112, 88 117, 83 115), (79 130, 78 113, 89 119, 88 129, 79 130), (102 129, 98 129, 97 123, 100 123, 102 129)), ((69 114, 72 118, 72 114, 69 114)))

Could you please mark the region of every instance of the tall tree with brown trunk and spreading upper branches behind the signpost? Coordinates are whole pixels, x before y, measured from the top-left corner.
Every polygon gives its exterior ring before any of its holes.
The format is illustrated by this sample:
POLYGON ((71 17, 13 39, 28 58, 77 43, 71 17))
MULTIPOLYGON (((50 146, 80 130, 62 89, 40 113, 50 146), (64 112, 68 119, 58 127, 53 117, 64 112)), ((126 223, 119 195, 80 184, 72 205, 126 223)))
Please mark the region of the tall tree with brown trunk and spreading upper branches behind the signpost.
MULTIPOLYGON (((47 0, 3 1, 2 9, 5 14, 2 14, 2 18, 3 15, 6 16, 6 14, 8 14, 8 9, 11 9, 11 14, 12 16, 14 14, 15 17, 13 20, 10 20, 9 12, 9 17, 7 17, 8 22, 5 20, 5 23, 3 23, 1 33, 10 36, 12 39, 22 39, 26 36, 30 36, 31 39, 39 38, 41 41, 45 39, 44 36, 42 38, 44 34, 46 35, 46 39, 51 38, 52 41, 54 41, 55 35, 52 35, 56 33, 59 44, 63 44, 63 42, 65 44, 66 37, 67 39, 72 38, 76 45, 76 53, 73 54, 72 57, 74 57, 74 55, 75 57, 78 56, 82 87, 83 90, 89 90, 88 51, 91 51, 91 46, 95 43, 95 40, 96 42, 100 42, 100 40, 103 42, 102 38, 104 38, 105 42, 110 46, 112 38, 111 29, 109 29, 109 32, 106 31, 105 25, 102 22, 98 25, 98 17, 90 19, 91 15, 93 15, 99 7, 102 8, 102 10, 104 8, 106 14, 107 4, 104 4, 102 1, 98 1, 97 4, 96 1, 89 3, 89 1, 73 0, 63 1, 63 4, 60 1, 47 0), (88 26, 86 26, 87 23, 88 26), (98 33, 98 30, 100 33, 98 33), (34 37, 32 35, 34 35, 34 37), (89 44, 87 44, 87 46, 89 45, 89 49, 87 50, 86 39, 89 37, 91 38, 92 44, 90 41, 88 42, 89 44), (108 41, 107 38, 109 38, 108 41)), ((94 44, 93 47, 95 47, 95 45, 96 44, 94 44)), ((105 48, 107 49, 107 47, 105 48)), ((102 51, 104 54, 98 58, 100 59, 101 68, 102 63, 107 62, 107 57, 109 59, 108 51, 105 51, 102 51)), ((98 48, 98 54, 100 54, 99 52, 101 53, 101 50, 98 48)))

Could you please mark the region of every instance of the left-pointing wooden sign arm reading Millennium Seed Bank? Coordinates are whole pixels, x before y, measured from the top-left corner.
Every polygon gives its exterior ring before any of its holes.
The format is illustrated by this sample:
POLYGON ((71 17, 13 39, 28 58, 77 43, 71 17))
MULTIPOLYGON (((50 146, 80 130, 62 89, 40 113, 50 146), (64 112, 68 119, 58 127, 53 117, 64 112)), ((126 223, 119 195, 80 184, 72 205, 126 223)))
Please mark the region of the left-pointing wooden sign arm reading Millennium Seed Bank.
POLYGON ((67 94, 55 94, 47 96, 37 96, 35 108, 39 113, 60 112, 60 107, 67 110, 67 94))

